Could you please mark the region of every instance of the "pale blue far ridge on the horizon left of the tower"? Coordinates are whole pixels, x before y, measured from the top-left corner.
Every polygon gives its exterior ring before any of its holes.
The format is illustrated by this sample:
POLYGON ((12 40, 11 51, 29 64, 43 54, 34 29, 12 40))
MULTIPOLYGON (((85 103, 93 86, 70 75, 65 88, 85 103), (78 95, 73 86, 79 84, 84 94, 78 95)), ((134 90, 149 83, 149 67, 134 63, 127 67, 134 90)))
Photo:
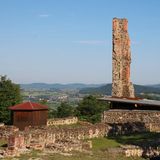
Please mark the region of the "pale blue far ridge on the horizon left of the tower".
POLYGON ((82 89, 82 88, 93 88, 100 87, 103 84, 83 84, 83 83, 70 83, 70 84, 47 84, 47 83, 31 83, 31 84, 20 84, 21 89, 24 90, 56 90, 56 89, 82 89))

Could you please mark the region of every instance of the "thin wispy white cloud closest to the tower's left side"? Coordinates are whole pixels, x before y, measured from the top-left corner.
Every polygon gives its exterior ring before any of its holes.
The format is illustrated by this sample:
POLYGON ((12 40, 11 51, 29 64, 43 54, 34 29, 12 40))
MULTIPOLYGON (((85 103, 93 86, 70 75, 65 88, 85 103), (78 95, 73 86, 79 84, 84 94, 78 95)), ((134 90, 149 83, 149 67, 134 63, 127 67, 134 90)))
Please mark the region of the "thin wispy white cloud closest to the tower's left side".
POLYGON ((81 40, 81 41, 74 41, 73 43, 97 45, 97 44, 107 44, 107 41, 106 40, 81 40))

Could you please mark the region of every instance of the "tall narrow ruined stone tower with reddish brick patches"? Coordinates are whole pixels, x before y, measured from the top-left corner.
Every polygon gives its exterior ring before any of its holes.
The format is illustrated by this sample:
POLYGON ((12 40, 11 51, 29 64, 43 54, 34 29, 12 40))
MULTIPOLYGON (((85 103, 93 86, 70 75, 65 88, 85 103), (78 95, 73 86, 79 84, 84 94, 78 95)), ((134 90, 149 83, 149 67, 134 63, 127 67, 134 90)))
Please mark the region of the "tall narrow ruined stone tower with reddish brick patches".
POLYGON ((134 98, 130 81, 131 51, 127 19, 113 19, 112 96, 134 98))

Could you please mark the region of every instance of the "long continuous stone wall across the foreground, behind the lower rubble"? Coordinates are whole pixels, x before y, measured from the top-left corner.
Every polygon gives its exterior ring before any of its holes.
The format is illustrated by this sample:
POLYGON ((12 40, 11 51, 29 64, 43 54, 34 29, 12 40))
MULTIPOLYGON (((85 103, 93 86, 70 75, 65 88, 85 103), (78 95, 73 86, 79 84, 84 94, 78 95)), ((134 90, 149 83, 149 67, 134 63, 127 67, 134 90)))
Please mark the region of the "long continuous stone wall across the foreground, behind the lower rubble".
POLYGON ((49 143, 61 140, 83 140, 105 135, 105 124, 84 125, 77 127, 26 127, 26 144, 33 141, 49 143))

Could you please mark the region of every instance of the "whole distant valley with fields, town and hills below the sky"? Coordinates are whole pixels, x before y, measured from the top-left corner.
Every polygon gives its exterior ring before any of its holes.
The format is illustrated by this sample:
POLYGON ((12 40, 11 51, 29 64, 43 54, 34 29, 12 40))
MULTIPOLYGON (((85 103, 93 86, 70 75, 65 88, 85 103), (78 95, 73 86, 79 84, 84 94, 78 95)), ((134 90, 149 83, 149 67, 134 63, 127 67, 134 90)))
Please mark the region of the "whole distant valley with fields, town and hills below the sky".
MULTIPOLYGON (((111 95, 111 84, 20 84, 23 100, 78 102, 86 95, 111 95)), ((160 100, 160 85, 134 85, 136 97, 160 100)))

